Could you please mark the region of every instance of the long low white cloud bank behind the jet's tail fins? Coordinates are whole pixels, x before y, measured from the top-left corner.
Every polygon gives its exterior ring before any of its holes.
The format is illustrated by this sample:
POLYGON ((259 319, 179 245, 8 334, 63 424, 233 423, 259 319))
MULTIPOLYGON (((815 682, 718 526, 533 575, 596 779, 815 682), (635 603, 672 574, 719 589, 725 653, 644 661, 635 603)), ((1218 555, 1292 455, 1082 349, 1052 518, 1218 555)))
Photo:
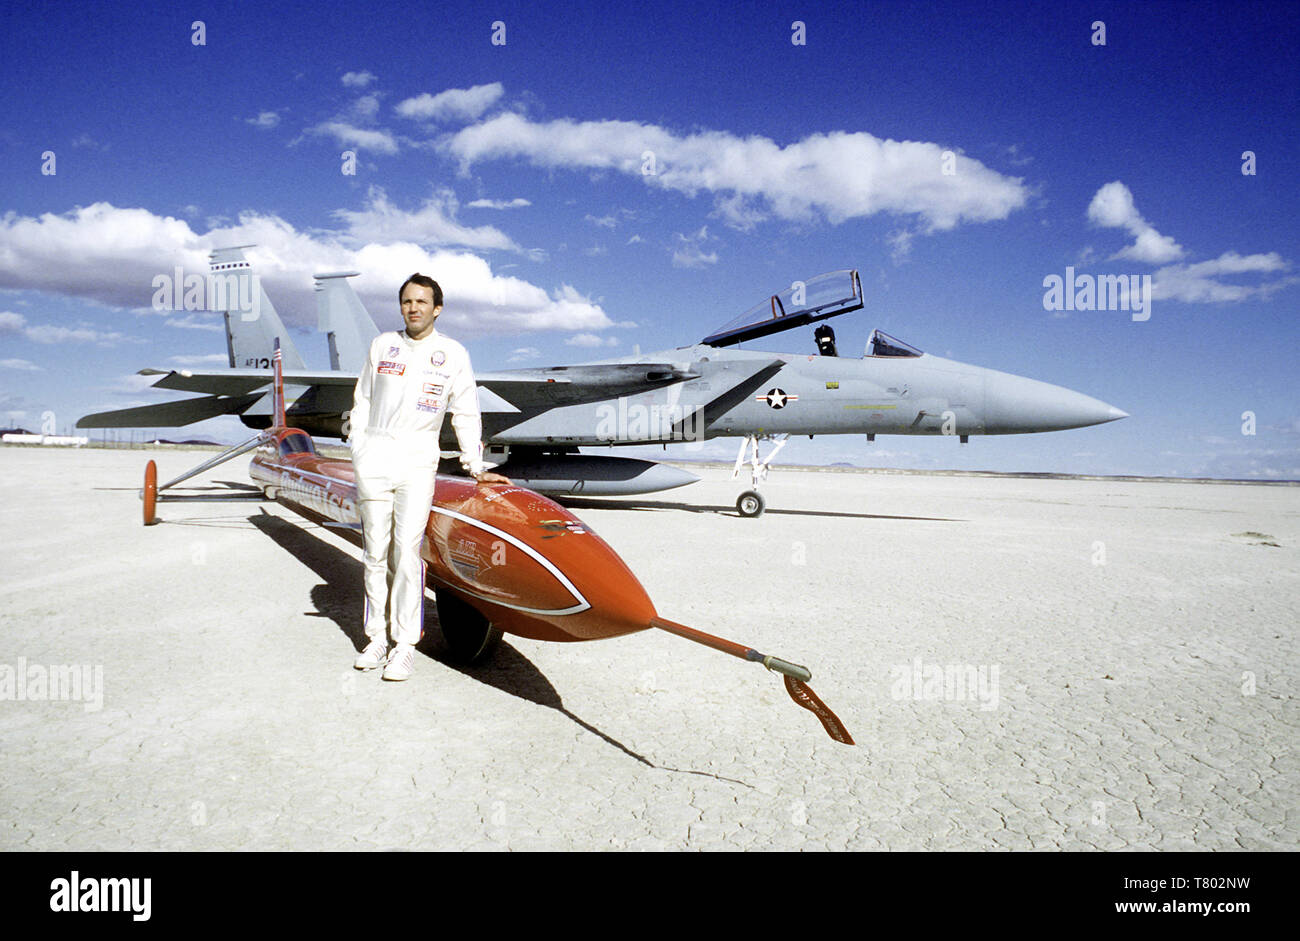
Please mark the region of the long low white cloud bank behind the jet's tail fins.
MULTIPOLYGON (((109 203, 36 217, 9 212, 0 216, 0 289, 46 291, 152 312, 156 276, 172 276, 177 265, 207 274, 213 248, 254 244, 256 248, 247 252, 254 269, 291 326, 316 328, 312 276, 346 269, 363 273, 354 286, 380 329, 400 324, 396 287, 411 272, 424 272, 442 285, 447 304, 439 322, 458 338, 612 326, 601 305, 571 285, 543 289, 494 272, 477 255, 417 244, 410 234, 382 230, 382 203, 372 200, 367 209, 373 212, 355 214, 355 229, 341 231, 300 231, 278 216, 243 212, 237 222, 202 234, 183 220, 109 203)), ((424 218, 421 212, 410 216, 424 218)), ((202 322, 200 317, 194 325, 202 322)), ((22 315, 0 312, 0 333, 21 334, 29 326, 22 315)), ((78 329, 84 328, 78 325, 74 333, 78 329)), ((95 339, 114 337, 100 334, 95 339)))

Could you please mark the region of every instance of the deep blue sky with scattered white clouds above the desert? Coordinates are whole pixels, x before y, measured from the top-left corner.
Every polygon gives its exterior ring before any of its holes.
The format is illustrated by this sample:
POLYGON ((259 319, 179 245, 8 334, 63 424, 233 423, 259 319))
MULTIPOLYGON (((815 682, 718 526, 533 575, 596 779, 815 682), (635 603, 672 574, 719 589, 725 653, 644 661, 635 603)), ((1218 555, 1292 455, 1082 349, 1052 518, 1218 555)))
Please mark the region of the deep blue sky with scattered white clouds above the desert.
POLYGON ((218 317, 150 300, 224 244, 259 244, 318 367, 316 270, 361 270, 385 329, 432 273, 441 329, 503 369, 684 346, 855 266, 841 354, 879 326, 1132 417, 784 460, 1300 478, 1297 40, 1294 4, 1249 3, 10 6, 0 422, 62 430, 168 398, 139 368, 222 364, 218 317), (1152 276, 1150 320, 1044 309, 1067 266, 1152 276))

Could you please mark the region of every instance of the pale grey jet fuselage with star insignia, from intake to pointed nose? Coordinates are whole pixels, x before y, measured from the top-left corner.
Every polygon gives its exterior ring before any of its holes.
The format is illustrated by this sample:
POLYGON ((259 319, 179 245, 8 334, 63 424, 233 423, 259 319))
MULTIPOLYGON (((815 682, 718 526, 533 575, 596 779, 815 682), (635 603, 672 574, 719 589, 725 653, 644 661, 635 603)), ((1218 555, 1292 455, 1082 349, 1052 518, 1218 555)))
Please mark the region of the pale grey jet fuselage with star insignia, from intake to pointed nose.
POLYGON ((1126 417, 1062 386, 916 356, 819 356, 710 346, 604 363, 671 363, 670 386, 541 412, 485 409, 485 437, 601 446, 767 434, 1022 434, 1126 417))

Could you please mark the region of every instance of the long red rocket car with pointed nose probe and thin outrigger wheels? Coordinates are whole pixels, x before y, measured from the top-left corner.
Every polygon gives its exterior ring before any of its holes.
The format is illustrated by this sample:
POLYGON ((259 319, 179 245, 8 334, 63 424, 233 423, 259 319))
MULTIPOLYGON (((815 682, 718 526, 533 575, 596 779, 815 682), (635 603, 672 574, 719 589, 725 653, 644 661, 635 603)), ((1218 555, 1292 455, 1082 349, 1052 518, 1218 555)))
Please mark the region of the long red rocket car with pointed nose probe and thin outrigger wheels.
MULTIPOLYGON (((352 461, 316 452, 311 435, 285 425, 280 348, 274 357, 272 428, 159 486, 144 470, 144 524, 156 521, 157 494, 254 451, 248 473, 290 509, 360 537, 352 461)), ((564 507, 520 486, 438 474, 421 555, 451 654, 473 662, 500 634, 537 641, 598 641, 656 628, 783 675, 785 688, 837 742, 853 745, 838 717, 807 686, 811 672, 753 647, 659 617, 618 552, 564 507)))

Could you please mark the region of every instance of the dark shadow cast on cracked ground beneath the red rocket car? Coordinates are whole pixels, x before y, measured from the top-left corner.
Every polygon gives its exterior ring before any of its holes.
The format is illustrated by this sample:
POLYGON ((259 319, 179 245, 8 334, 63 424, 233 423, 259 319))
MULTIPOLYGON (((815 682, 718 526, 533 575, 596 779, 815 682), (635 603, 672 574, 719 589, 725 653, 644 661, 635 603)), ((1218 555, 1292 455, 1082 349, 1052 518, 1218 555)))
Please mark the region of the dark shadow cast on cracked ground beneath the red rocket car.
MULTIPOLYGON (((328 522, 325 517, 315 513, 312 515, 312 519, 320 525, 325 525, 328 522)), ((312 604, 316 606, 316 611, 311 613, 313 616, 326 617, 334 621, 335 626, 343 633, 343 636, 352 642, 352 647, 358 651, 363 650, 369 642, 369 638, 367 638, 365 632, 361 628, 360 619, 360 611, 365 604, 365 590, 361 581, 364 567, 361 561, 359 559, 354 559, 338 546, 313 535, 307 529, 283 520, 280 516, 273 516, 265 511, 250 516, 248 521, 269 535, 281 548, 302 561, 321 578, 322 584, 313 587, 311 593, 312 604)), ((361 537, 356 530, 338 529, 337 532, 339 532, 339 534, 348 541, 360 546, 361 537)), ((473 665, 458 663, 450 655, 447 645, 442 639, 442 630, 438 626, 436 613, 437 607, 432 602, 433 599, 429 598, 425 603, 425 633, 424 641, 421 641, 419 646, 420 652, 425 656, 437 660, 463 676, 491 686, 493 689, 498 689, 502 693, 508 693, 510 695, 519 697, 520 699, 525 699, 537 706, 552 708, 649 768, 682 771, 681 768, 666 768, 650 762, 644 755, 632 751, 629 747, 623 745, 623 742, 619 742, 618 740, 607 736, 604 732, 601 732, 601 729, 595 728, 586 720, 573 715, 564 706, 563 699, 560 699, 560 694, 555 690, 546 676, 537 669, 537 667, 533 665, 526 656, 515 650, 515 647, 504 639, 497 642, 495 649, 489 655, 486 662, 473 665)), ((732 784, 745 784, 744 781, 723 777, 707 771, 686 771, 685 773, 705 775, 707 777, 716 777, 718 780, 729 781, 732 784)), ((745 784, 745 786, 751 785, 745 784)))

